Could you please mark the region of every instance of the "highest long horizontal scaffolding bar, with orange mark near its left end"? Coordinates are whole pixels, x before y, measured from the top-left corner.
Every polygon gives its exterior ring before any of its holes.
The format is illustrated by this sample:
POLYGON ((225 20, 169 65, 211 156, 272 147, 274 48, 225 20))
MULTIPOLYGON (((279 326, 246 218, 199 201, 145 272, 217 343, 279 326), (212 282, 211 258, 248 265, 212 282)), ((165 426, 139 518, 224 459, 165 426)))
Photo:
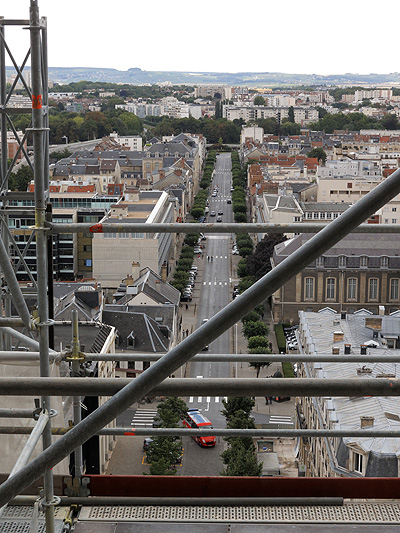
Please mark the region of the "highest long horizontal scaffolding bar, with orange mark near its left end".
MULTIPOLYGON (((331 222, 330 222, 331 224, 331 222)), ((294 224, 218 223, 46 223, 53 233, 318 233, 329 224, 298 222, 294 224)), ((352 233, 400 233, 400 224, 360 224, 352 233)))

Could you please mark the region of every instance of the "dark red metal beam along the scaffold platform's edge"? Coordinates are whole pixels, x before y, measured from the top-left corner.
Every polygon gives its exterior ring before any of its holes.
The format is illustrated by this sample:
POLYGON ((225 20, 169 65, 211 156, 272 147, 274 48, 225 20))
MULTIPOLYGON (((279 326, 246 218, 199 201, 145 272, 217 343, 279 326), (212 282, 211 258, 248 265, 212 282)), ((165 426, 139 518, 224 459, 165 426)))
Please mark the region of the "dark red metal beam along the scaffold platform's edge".
POLYGON ((400 478, 85 476, 91 496, 400 499, 400 478))

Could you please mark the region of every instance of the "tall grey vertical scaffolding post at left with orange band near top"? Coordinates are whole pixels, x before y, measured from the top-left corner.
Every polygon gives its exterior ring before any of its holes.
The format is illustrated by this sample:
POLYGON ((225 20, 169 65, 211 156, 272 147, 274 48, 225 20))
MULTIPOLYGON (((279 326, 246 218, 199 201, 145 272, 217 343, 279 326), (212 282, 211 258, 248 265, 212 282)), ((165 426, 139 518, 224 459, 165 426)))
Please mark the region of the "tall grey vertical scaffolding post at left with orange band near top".
MULTIPOLYGON (((31 38, 31 79, 32 79, 32 134, 34 150, 34 171, 35 171, 35 229, 36 229, 36 250, 37 250, 37 288, 38 288, 38 310, 40 323, 40 375, 49 377, 49 316, 47 301, 47 236, 45 230, 46 212, 46 187, 45 174, 45 143, 47 139, 47 128, 43 120, 43 93, 48 88, 46 85, 47 76, 43 75, 43 58, 47 50, 43 48, 41 42, 41 29, 44 21, 39 18, 39 7, 37 0, 31 0, 30 5, 30 38, 31 38)), ((47 65, 47 60, 45 61, 47 65)), ((47 102, 47 97, 44 99, 47 102)), ((48 192, 48 189, 47 189, 48 192)), ((42 408, 50 412, 50 396, 42 396, 42 408)), ((47 449, 52 444, 51 422, 46 425, 43 432, 43 448, 47 449)), ((54 533, 54 487, 52 470, 47 468, 44 473, 44 507, 46 509, 46 532, 54 533)))

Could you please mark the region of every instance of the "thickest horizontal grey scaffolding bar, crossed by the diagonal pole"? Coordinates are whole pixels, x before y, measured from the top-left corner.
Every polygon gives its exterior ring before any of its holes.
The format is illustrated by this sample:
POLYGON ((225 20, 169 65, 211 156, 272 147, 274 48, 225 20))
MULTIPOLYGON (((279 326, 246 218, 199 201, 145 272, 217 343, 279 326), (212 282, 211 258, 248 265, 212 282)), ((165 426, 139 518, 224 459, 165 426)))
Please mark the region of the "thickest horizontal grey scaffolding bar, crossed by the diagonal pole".
MULTIPOLYGON (((146 370, 148 372, 148 370, 146 370)), ((144 375, 143 372, 141 375, 144 375)), ((138 378, 0 378, 1 396, 112 396, 138 378)), ((152 396, 400 396, 397 379, 170 378, 152 396)))

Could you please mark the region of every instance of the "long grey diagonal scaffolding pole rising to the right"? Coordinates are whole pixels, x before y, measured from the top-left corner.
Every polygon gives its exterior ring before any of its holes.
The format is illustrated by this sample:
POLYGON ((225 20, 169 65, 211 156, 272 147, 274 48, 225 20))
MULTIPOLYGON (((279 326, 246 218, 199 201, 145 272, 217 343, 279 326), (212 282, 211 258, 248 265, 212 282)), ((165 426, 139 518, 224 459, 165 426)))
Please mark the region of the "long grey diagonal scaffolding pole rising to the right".
MULTIPOLYGON (((72 428, 71 431, 61 437, 50 448, 44 450, 29 465, 13 476, 13 478, 5 481, 0 487, 0 505, 16 496, 21 490, 37 479, 37 477, 39 477, 44 471, 56 465, 77 446, 86 442, 97 431, 114 420, 119 413, 126 410, 132 405, 132 403, 138 401, 163 379, 166 379, 169 375, 174 373, 177 368, 186 363, 204 346, 210 344, 226 330, 229 330, 229 328, 242 316, 246 315, 254 307, 272 295, 280 286, 295 276, 313 260, 329 250, 334 244, 339 242, 345 235, 364 222, 370 215, 375 213, 377 209, 385 205, 399 192, 400 170, 397 170, 340 217, 314 235, 299 250, 282 261, 282 263, 272 269, 252 287, 247 289, 239 299, 228 304, 192 335, 184 339, 179 345, 175 346, 160 361, 157 361, 153 366, 147 369, 146 372, 140 374, 139 377, 134 379, 127 387, 96 409, 96 411, 91 413, 80 424, 72 428)), ((40 233, 43 232, 39 232, 39 234, 40 233)), ((45 291, 43 290, 42 292, 39 290, 39 293, 45 294, 45 291)), ((46 349, 48 352, 48 345, 46 345, 46 349)), ((396 389, 397 393, 400 392, 400 386, 396 384, 394 380, 385 380, 385 385, 388 384, 392 386, 392 389, 390 386, 387 386, 384 387, 385 390, 389 390, 389 392, 392 391, 393 393, 393 389, 396 389)), ((218 390, 219 387, 220 382, 218 382, 218 390)), ((340 388, 339 384, 338 388, 340 388)), ((215 390, 217 390, 217 388, 215 390)), ((353 395, 353 392, 354 389, 352 390, 351 395, 353 395)), ((309 394, 308 391, 306 394, 309 394)), ((327 394, 326 386, 324 386, 322 394, 327 394)), ((254 395, 254 393, 252 395, 254 395)), ((315 392, 313 392, 310 395, 317 396, 318 393, 315 394, 315 392)), ((342 395, 346 396, 347 393, 345 392, 342 395)), ((386 394, 384 393, 382 395, 386 394)))

